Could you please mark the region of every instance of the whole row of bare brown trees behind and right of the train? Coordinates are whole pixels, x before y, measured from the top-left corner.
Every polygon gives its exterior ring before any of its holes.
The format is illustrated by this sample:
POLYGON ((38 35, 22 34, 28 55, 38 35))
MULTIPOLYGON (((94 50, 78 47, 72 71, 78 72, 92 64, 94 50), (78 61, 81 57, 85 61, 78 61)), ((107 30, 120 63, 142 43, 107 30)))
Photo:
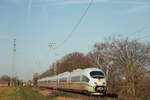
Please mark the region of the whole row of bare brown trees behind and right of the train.
POLYGON ((44 73, 34 74, 34 80, 89 67, 100 68, 108 74, 109 91, 118 93, 123 100, 149 100, 150 44, 128 38, 96 43, 87 54, 67 54, 44 73))

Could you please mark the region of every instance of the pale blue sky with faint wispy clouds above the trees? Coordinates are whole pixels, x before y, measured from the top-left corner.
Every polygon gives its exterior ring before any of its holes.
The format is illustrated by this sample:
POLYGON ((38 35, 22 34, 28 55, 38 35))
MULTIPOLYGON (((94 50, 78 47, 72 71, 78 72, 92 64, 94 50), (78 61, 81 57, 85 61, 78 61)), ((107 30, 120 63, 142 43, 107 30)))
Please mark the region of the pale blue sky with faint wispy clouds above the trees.
MULTIPOLYGON (((150 35, 149 0, 0 0, 0 76, 12 73, 16 38, 16 74, 32 79, 71 52, 88 53, 95 43, 118 34, 137 39, 150 35), (55 43, 51 48, 49 43, 55 43), (61 45, 61 46, 60 46, 61 45), (60 46, 60 47, 57 47, 60 46)), ((148 42, 150 36, 141 39, 148 42)))

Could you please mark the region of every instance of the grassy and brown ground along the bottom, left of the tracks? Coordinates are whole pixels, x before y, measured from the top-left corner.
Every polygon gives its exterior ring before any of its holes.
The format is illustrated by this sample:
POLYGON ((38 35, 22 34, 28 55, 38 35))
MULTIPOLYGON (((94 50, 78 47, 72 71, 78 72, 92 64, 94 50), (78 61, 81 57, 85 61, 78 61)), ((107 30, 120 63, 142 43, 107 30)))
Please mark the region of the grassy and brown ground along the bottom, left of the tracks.
POLYGON ((0 87, 0 100, 114 100, 29 87, 0 87))

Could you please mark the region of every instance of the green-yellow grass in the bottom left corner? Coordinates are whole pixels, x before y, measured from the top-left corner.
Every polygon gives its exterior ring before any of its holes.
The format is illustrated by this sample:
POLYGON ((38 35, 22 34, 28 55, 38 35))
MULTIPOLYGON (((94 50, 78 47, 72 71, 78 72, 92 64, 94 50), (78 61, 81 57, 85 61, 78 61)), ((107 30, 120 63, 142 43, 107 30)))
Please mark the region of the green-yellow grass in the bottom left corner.
POLYGON ((55 100, 27 87, 0 87, 0 100, 55 100))

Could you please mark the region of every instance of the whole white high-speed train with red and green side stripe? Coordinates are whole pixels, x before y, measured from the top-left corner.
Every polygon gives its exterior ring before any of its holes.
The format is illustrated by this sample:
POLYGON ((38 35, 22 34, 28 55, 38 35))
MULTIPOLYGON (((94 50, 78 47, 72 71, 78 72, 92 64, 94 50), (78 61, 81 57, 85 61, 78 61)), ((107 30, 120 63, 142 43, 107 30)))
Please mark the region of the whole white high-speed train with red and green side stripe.
POLYGON ((37 85, 90 95, 105 95, 107 92, 106 74, 99 68, 76 69, 72 72, 42 78, 37 81, 37 85))

